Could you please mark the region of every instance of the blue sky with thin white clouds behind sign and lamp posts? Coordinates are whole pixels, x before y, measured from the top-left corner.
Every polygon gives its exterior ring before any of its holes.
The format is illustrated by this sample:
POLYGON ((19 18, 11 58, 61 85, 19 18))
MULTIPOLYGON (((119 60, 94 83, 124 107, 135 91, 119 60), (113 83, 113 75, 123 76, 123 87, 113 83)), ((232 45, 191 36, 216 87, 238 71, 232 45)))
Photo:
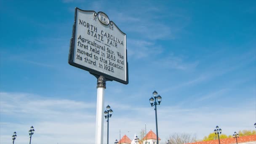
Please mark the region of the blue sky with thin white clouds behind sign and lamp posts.
MULTIPOLYGON (((256 2, 0 1, 0 143, 93 144, 96 78, 68 64, 75 7, 103 11, 126 34, 129 84, 107 82, 109 142, 141 129, 203 139, 255 130, 256 2)), ((107 122, 104 122, 104 143, 107 122)))

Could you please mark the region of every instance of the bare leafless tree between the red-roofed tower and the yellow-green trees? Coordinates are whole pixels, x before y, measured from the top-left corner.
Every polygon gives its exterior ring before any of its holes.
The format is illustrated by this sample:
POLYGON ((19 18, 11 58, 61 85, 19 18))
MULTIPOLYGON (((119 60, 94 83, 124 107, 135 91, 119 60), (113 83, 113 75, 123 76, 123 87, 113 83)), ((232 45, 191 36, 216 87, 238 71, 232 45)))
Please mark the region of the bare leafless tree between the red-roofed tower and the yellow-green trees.
POLYGON ((168 140, 171 144, 185 144, 195 142, 196 136, 189 133, 173 133, 168 140))

